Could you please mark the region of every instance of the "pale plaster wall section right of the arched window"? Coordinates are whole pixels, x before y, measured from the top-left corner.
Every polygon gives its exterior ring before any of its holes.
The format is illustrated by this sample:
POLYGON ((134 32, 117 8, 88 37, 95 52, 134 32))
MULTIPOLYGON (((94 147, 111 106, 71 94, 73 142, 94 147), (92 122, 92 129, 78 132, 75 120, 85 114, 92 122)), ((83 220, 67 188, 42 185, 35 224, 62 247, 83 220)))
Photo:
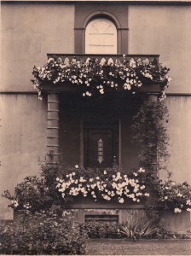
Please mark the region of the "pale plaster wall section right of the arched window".
POLYGON ((191 93, 191 6, 129 6, 129 54, 159 54, 171 68, 167 91, 191 93))

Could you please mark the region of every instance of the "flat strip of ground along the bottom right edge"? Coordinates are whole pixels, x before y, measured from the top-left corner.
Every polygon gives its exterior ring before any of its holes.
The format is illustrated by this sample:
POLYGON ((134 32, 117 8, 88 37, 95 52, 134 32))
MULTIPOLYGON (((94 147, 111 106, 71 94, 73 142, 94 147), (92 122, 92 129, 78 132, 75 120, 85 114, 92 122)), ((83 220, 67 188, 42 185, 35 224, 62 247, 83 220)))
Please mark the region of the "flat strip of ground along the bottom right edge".
POLYGON ((191 255, 191 240, 128 241, 97 239, 87 242, 88 255, 191 255))

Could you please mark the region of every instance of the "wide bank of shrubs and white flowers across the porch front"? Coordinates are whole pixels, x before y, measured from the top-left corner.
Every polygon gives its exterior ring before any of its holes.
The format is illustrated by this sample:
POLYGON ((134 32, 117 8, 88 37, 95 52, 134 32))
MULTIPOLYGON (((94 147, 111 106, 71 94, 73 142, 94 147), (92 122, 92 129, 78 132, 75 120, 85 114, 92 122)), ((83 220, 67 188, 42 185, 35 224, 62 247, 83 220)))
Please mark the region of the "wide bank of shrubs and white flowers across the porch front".
POLYGON ((150 180, 142 168, 127 172, 118 166, 101 171, 85 170, 78 165, 70 168, 45 165, 41 177, 26 177, 16 186, 14 195, 6 190, 3 196, 11 201, 9 207, 17 210, 36 212, 55 205, 62 211, 75 198, 105 201, 106 204, 144 204, 151 189, 157 201, 155 207, 159 210, 191 211, 191 187, 188 183, 175 183, 170 179, 163 182, 156 177, 150 180))

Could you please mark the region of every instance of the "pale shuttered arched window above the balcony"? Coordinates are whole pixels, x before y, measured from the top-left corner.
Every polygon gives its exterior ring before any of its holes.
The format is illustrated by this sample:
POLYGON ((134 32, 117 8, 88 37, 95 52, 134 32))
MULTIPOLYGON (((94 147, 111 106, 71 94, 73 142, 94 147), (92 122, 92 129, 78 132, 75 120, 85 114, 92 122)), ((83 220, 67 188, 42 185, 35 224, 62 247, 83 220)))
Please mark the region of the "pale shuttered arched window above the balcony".
POLYGON ((117 54, 117 29, 111 20, 91 20, 85 29, 86 54, 117 54))

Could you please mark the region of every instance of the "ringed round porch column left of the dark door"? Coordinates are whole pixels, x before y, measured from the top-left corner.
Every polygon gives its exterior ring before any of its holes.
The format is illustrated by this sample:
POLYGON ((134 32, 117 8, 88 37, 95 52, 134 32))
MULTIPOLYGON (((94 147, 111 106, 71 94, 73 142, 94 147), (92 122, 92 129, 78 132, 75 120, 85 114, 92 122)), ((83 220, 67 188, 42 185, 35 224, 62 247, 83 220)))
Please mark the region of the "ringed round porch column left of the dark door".
POLYGON ((51 165, 59 161, 59 95, 48 94, 47 113, 47 162, 51 165))

